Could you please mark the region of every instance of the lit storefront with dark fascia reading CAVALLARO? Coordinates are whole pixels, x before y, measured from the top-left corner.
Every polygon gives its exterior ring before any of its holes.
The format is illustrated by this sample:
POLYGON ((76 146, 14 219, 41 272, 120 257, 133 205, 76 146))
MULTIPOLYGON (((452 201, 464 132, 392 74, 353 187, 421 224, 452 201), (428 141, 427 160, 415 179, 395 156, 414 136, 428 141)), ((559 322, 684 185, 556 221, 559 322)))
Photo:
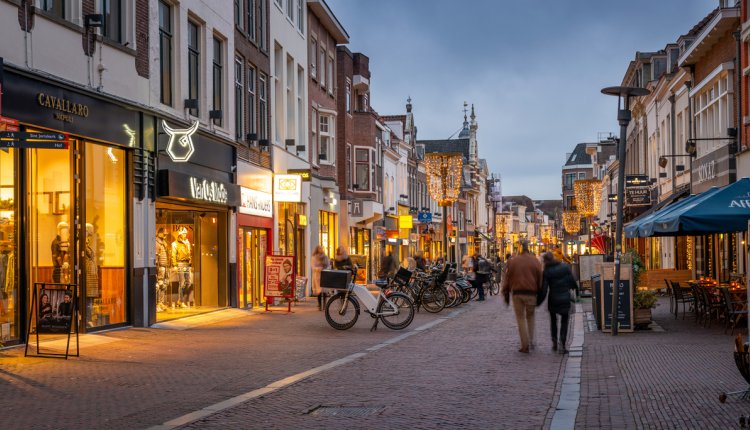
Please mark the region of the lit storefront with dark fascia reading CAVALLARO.
MULTIPOLYGON (((26 340, 35 283, 77 291, 81 331, 128 324, 127 178, 132 149, 141 144, 139 114, 8 67, 4 72, 6 127, 64 133, 67 140, 19 141, 0 151, 0 341, 26 340)), ((52 318, 60 317, 60 303, 51 305, 52 318)), ((31 325, 33 332, 34 318, 31 325)))

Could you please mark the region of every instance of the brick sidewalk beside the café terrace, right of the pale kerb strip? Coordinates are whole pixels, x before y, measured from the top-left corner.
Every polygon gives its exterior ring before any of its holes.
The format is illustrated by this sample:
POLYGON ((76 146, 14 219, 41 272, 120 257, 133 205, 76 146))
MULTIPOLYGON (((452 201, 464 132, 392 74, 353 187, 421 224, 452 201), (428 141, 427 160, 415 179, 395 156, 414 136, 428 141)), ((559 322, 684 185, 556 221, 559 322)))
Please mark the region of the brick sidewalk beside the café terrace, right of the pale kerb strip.
POLYGON ((739 428, 750 402, 719 402, 721 392, 748 387, 734 364, 733 337, 716 323, 679 318, 663 298, 653 311, 663 331, 586 333, 577 429, 739 428))

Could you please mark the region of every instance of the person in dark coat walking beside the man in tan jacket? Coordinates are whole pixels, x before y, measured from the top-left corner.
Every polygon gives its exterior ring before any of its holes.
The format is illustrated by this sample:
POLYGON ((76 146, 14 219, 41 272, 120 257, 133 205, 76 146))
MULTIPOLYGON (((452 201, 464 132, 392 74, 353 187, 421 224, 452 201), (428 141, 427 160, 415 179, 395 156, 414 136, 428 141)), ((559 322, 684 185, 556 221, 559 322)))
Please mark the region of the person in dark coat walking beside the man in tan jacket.
POLYGON ((568 337, 568 321, 570 320, 571 290, 576 288, 573 272, 567 264, 555 260, 551 252, 542 255, 544 273, 542 274, 543 288, 548 290, 547 308, 549 309, 550 329, 552 332, 552 349, 565 354, 565 341, 568 337), (560 334, 557 333, 557 316, 560 315, 560 334), (557 340, 560 339, 560 343, 557 340))

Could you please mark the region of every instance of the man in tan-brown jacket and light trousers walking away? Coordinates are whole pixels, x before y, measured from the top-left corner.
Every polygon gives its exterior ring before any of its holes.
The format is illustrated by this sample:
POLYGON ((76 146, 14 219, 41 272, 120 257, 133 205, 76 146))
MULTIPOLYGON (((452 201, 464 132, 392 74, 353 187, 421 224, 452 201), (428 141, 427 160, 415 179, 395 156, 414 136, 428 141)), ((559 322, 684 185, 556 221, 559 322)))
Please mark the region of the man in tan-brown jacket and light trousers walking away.
POLYGON ((534 344, 534 310, 536 294, 542 286, 542 264, 529 252, 528 242, 521 243, 521 254, 508 261, 507 273, 503 276, 502 293, 505 304, 510 303, 513 292, 513 310, 521 337, 521 349, 528 353, 534 344))

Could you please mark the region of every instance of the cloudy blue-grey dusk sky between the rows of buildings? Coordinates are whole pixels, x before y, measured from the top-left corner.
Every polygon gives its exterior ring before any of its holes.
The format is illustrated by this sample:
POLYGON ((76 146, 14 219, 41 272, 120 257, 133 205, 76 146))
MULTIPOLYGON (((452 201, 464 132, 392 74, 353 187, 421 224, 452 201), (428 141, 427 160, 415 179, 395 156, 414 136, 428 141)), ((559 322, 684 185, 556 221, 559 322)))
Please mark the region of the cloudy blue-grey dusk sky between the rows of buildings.
POLYGON ((419 139, 447 139, 474 104, 479 156, 504 195, 560 199, 565 155, 619 133, 617 99, 636 51, 663 49, 718 0, 326 0, 370 58, 372 106, 419 139))

